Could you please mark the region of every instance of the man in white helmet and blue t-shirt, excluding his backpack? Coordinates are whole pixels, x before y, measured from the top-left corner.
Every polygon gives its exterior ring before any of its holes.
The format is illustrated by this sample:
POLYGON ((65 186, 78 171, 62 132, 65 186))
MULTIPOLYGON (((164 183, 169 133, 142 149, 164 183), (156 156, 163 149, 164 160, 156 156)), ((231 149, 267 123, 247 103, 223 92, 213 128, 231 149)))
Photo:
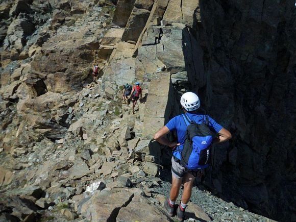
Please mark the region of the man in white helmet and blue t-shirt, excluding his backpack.
MULTIPOLYGON (((180 102, 185 115, 178 115, 169 120, 168 123, 154 135, 154 139, 161 144, 169 146, 173 150, 173 157, 171 159, 172 180, 170 195, 164 203, 164 208, 170 216, 174 214, 175 202, 179 195, 181 184, 183 183, 184 190, 182 200, 177 209, 178 219, 182 221, 184 219, 185 208, 191 196, 194 179, 196 176, 201 176, 201 170, 189 170, 186 166, 181 165, 181 151, 183 150, 188 126, 186 119, 194 121, 196 124, 207 122, 208 128, 217 133, 217 136, 211 140, 212 143, 225 142, 231 139, 231 133, 217 124, 217 122, 208 115, 198 113, 197 110, 200 107, 200 100, 193 92, 184 93, 180 102), (174 130, 177 131, 178 141, 169 141, 165 135, 174 130)), ((204 144, 204 142, 205 141, 201 144, 204 144)))

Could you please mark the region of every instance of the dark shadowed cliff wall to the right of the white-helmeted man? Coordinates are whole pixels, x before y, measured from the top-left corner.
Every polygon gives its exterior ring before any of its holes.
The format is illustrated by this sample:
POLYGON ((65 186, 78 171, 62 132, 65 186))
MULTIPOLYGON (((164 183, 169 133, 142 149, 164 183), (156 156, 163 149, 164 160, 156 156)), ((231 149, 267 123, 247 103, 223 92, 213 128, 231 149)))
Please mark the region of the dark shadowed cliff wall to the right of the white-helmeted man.
POLYGON ((233 133, 215 147, 207 183, 251 210, 295 219, 294 2, 200 1, 193 17, 183 35, 189 88, 233 133))

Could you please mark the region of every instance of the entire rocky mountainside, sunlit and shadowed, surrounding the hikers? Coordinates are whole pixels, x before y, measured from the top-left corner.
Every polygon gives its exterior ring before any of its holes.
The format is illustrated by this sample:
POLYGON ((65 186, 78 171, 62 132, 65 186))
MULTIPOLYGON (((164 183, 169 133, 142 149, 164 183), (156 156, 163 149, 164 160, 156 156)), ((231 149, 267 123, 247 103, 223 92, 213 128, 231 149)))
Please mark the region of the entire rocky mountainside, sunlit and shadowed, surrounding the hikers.
POLYGON ((233 134, 199 187, 241 208, 193 187, 186 220, 295 220, 294 2, 0 2, 1 221, 174 220, 153 135, 189 90, 233 134))

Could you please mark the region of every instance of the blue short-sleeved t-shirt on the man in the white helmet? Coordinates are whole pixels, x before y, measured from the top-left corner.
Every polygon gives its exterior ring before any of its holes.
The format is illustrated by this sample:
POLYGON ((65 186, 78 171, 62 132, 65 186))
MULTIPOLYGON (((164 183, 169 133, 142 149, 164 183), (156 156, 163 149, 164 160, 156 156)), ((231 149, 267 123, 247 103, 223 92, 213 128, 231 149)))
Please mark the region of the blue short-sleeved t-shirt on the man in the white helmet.
MULTIPOLYGON (((196 124, 202 124, 202 122, 206 122, 207 115, 192 114, 192 113, 186 113, 186 115, 191 121, 196 122, 196 124)), ((212 128, 214 131, 216 131, 216 133, 218 133, 223 128, 222 126, 217 124, 217 122, 214 119, 212 119, 209 115, 208 115, 208 119, 209 119, 209 127, 212 128)), ((169 129, 169 131, 174 131, 174 130, 177 131, 178 143, 181 143, 180 147, 183 147, 183 144, 185 142, 185 137, 186 137, 186 129, 187 129, 187 125, 186 125, 186 122, 184 121, 183 116, 182 115, 175 116, 174 118, 169 120, 165 126, 169 129)))

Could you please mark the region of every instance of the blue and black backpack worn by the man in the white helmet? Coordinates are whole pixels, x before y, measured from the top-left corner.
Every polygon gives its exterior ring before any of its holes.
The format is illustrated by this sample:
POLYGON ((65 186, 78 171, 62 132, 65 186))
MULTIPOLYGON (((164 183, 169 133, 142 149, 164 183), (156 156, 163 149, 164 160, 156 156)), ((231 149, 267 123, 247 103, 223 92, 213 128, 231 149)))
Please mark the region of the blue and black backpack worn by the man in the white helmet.
POLYGON ((186 138, 181 151, 180 164, 189 170, 204 169, 209 166, 211 144, 215 133, 209 128, 209 118, 202 124, 191 121, 186 114, 182 114, 186 123, 186 138))

